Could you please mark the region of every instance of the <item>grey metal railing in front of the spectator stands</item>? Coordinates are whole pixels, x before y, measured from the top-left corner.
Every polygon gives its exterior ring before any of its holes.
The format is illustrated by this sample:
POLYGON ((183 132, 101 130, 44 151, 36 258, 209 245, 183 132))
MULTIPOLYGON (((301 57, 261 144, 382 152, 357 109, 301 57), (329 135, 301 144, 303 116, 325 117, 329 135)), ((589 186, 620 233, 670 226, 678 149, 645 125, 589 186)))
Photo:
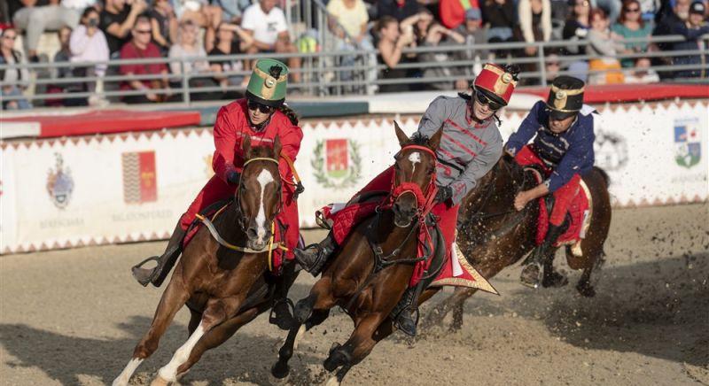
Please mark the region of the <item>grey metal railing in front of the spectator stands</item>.
MULTIPOLYGON (((308 2, 307 2, 308 3, 308 2)), ((706 39, 706 37, 705 37, 706 39)), ((627 39, 625 42, 682 42, 681 36, 653 36, 650 39, 627 39)), ((372 62, 370 59, 375 52, 370 50, 362 50, 354 48, 353 50, 321 50, 313 53, 277 53, 275 56, 284 60, 288 58, 301 58, 303 66, 300 68, 292 68, 292 73, 300 73, 302 81, 300 83, 289 83, 289 89, 295 94, 308 95, 314 97, 338 96, 338 95, 365 95, 371 93, 373 86, 385 85, 419 85, 426 86, 433 83, 449 82, 450 89, 453 89, 453 81, 456 76, 464 77, 470 80, 470 69, 473 66, 478 66, 480 59, 484 62, 485 58, 471 58, 470 55, 462 55, 463 53, 480 52, 480 51, 501 51, 515 52, 524 50, 524 48, 534 45, 537 48, 537 54, 534 57, 508 55, 495 59, 496 63, 510 64, 526 67, 526 71, 520 73, 522 81, 535 84, 546 85, 549 74, 546 73, 545 64, 547 62, 547 53, 550 50, 557 50, 572 45, 585 45, 588 42, 584 41, 562 41, 562 42, 509 42, 509 43, 488 43, 475 45, 453 45, 453 46, 438 46, 438 47, 418 47, 416 49, 403 50, 404 55, 422 56, 423 54, 445 55, 446 60, 442 61, 415 61, 410 63, 401 63, 396 66, 397 69, 410 70, 411 73, 422 73, 427 69, 436 68, 456 68, 463 69, 462 75, 451 76, 417 76, 410 75, 395 79, 371 79, 368 74, 372 72, 381 72, 386 69, 383 64, 372 62)), ((705 47, 707 45, 705 44, 705 47)), ((21 89, 31 89, 33 92, 25 93, 22 96, 4 96, 4 102, 19 99, 27 99, 32 101, 46 100, 66 100, 77 98, 88 98, 98 96, 106 98, 110 101, 119 101, 121 97, 140 96, 144 95, 144 90, 136 89, 120 89, 120 84, 127 81, 155 81, 162 80, 165 76, 162 74, 150 75, 131 75, 126 76, 120 73, 121 65, 148 65, 148 64, 166 64, 180 63, 180 74, 168 74, 170 81, 169 88, 152 89, 156 94, 171 95, 175 101, 184 104, 191 104, 194 99, 204 100, 204 97, 214 97, 219 99, 224 92, 244 92, 245 88, 241 85, 230 85, 222 87, 214 83, 214 85, 197 86, 194 80, 199 79, 214 79, 217 76, 248 76, 248 71, 233 71, 227 73, 188 73, 185 71, 188 64, 209 60, 212 62, 232 61, 232 60, 253 60, 255 58, 272 57, 274 54, 258 54, 258 55, 231 55, 220 57, 207 58, 143 58, 143 59, 126 59, 126 60, 111 60, 108 62, 92 62, 92 63, 75 63, 75 62, 60 62, 60 63, 33 63, 20 65, 1 65, 0 70, 12 71, 19 68, 27 68, 34 73, 30 80, 15 81, 8 84, 3 84, 4 88, 16 86, 21 89), (108 66, 108 71, 105 76, 73 76, 65 78, 52 78, 47 75, 51 70, 58 68, 87 68, 98 65, 108 66), (64 85, 85 84, 96 82, 103 84, 103 88, 98 87, 97 91, 78 91, 78 92, 47 92, 49 86, 54 86, 55 89, 63 89, 64 85)), ((562 64, 571 64, 574 62, 583 62, 598 57, 591 55, 559 55, 556 60, 562 64)), ((666 50, 666 51, 648 51, 639 53, 622 54, 615 57, 619 60, 624 58, 651 58, 656 63, 650 67, 651 70, 663 73, 665 76, 676 80, 678 72, 697 71, 700 73, 709 73, 709 63, 706 58, 709 58, 709 50, 666 50), (678 58, 701 58, 694 64, 676 64, 682 60, 678 58)), ((632 68, 624 68, 623 71, 633 71, 632 68)), ((606 70, 589 70, 588 74, 593 76, 598 73, 604 73, 606 70)), ((615 71, 615 70, 612 70, 615 71)), ((573 74, 573 71, 565 69, 559 71, 557 75, 573 74)), ((705 78, 707 75, 704 75, 705 78)), ((696 81, 697 77, 693 77, 692 81, 696 81)))

